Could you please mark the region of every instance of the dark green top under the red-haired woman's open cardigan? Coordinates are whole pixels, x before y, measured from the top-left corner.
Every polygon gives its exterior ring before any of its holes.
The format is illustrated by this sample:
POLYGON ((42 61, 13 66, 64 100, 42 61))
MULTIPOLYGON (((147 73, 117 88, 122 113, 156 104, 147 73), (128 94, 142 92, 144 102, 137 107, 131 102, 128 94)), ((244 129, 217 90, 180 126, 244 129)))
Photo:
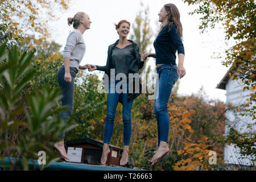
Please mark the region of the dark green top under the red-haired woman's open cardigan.
POLYGON ((112 60, 115 68, 115 76, 117 76, 118 73, 124 73, 128 78, 128 70, 134 59, 135 53, 132 44, 122 49, 114 47, 112 52, 112 60))

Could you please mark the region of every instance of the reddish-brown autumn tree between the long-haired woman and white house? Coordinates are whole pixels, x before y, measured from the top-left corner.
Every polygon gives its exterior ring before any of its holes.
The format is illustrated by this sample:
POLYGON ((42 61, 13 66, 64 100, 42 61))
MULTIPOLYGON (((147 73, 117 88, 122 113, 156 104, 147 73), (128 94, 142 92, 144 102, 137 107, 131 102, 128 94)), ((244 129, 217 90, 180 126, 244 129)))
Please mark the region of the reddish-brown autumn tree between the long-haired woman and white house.
MULTIPOLYGON (((194 110, 191 115, 192 142, 198 143, 202 136, 211 140, 212 150, 220 158, 224 157, 223 135, 225 134, 225 104, 218 100, 208 100, 203 88, 197 94, 189 97, 173 99, 174 105, 184 106, 187 110, 194 110)), ((191 142, 190 142, 191 143, 191 142)))

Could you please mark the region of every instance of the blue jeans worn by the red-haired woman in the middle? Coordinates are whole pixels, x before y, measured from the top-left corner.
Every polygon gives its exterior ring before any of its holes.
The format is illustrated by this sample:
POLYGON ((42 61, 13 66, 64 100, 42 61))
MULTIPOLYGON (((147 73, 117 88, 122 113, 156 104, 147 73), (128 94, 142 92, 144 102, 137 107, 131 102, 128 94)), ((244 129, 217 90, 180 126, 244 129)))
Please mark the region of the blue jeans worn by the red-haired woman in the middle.
MULTIPOLYGON (((118 99, 122 94, 123 99, 123 110, 122 110, 122 116, 123 116, 123 144, 126 146, 130 145, 130 139, 131 139, 131 109, 133 107, 133 100, 128 102, 127 101, 127 93, 119 93, 117 92, 115 86, 119 80, 115 80, 115 82, 110 83, 109 82, 109 92, 107 96, 107 115, 106 115, 106 122, 105 122, 105 128, 104 128, 104 143, 110 143, 110 139, 113 134, 114 129, 114 120, 115 120, 115 111, 117 109, 118 99), (110 92, 110 89, 114 90, 114 92, 110 92)), ((121 89, 128 89, 129 85, 121 86, 121 89)))

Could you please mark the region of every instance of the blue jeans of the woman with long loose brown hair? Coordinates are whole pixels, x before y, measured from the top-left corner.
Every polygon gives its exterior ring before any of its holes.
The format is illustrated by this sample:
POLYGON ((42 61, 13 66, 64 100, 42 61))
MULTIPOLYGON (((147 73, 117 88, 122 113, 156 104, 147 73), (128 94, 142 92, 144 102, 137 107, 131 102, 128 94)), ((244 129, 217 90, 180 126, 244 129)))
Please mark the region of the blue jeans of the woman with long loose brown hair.
POLYGON ((167 104, 171 95, 172 86, 178 80, 177 65, 162 64, 156 68, 159 74, 156 84, 156 95, 154 113, 158 122, 158 146, 160 141, 168 143, 168 134, 170 127, 170 117, 167 104))

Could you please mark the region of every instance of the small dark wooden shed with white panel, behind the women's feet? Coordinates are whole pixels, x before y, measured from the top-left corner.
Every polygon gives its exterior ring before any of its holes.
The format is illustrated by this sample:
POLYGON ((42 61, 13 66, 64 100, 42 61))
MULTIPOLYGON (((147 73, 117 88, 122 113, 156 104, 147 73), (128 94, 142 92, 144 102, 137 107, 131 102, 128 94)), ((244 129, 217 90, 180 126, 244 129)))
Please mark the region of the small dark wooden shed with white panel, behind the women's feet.
MULTIPOLYGON (((103 142, 91 138, 83 138, 65 142, 65 149, 68 154, 70 162, 81 164, 101 163, 101 154, 103 149, 103 142)), ((123 152, 122 148, 109 145, 110 153, 106 164, 108 166, 118 166, 119 158, 123 152)))

